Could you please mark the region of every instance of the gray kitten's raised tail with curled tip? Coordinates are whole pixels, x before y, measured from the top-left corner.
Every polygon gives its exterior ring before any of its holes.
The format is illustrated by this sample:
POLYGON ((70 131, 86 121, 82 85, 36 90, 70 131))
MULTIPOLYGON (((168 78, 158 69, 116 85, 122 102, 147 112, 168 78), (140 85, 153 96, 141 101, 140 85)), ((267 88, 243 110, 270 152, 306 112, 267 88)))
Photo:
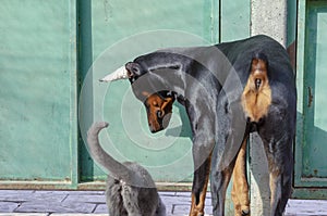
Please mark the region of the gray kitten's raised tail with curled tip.
POLYGON ((100 145, 98 135, 108 127, 106 122, 94 123, 87 131, 87 143, 92 157, 104 166, 117 179, 131 180, 130 169, 110 156, 100 145))

